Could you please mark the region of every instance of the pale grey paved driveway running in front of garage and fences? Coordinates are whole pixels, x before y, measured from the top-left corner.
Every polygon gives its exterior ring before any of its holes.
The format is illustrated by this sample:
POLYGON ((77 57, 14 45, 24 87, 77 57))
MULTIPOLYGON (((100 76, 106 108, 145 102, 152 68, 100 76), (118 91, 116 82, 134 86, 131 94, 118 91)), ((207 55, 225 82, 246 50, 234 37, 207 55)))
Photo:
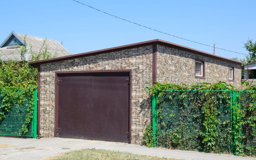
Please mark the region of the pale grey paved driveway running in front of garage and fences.
POLYGON ((146 146, 136 144, 106 141, 68 138, 21 139, 0 137, 0 159, 40 159, 53 156, 58 153, 87 148, 181 159, 254 159, 251 157, 239 157, 226 154, 148 148, 146 146), (6 145, 9 145, 9 147, 6 145))

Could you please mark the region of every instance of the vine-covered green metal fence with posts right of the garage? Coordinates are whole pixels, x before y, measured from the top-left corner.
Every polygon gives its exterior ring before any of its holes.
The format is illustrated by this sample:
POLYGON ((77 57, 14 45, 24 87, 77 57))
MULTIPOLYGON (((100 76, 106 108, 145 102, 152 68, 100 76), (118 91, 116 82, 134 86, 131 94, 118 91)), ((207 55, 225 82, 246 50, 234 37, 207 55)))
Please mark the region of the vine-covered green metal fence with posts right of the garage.
MULTIPOLYGON (((216 146, 213 151, 233 153, 233 109, 232 105, 239 97, 241 107, 247 107, 254 101, 250 98, 250 91, 216 90, 209 91, 211 96, 218 99, 216 104, 220 122, 216 124, 216 146), (221 95, 221 96, 219 96, 221 95), (221 98, 222 97, 222 98, 221 98)), ((183 150, 202 150, 201 136, 199 135, 203 122, 203 111, 200 101, 205 99, 205 92, 196 90, 165 91, 163 96, 152 97, 152 125, 156 137, 156 145, 183 150), (157 103, 158 102, 158 103, 157 103), (177 140, 178 137, 178 140, 177 140)), ((239 105, 238 105, 239 106, 239 105)), ((240 108, 237 108, 240 109, 240 108)), ((248 112, 249 113, 249 112, 248 112)), ((247 114, 248 114, 247 113, 247 114)), ((255 112, 250 112, 255 115, 255 112)), ((242 144, 245 147, 256 145, 255 127, 243 126, 242 134, 246 135, 242 144)))

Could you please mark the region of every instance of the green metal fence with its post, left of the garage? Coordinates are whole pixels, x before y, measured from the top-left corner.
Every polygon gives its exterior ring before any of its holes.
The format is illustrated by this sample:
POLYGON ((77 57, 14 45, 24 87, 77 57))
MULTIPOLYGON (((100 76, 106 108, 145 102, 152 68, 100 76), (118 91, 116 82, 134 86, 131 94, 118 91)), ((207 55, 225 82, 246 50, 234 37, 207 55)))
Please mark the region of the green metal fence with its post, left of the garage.
MULTIPOLYGON (((22 91, 22 90, 19 90, 22 91)), ((3 97, 0 96, 0 105, 3 97)), ((15 103, 12 109, 5 115, 5 118, 0 121, 0 135, 3 136, 20 136, 22 125, 25 122, 25 116, 28 113, 29 100, 22 104, 15 103)), ((37 90, 34 90, 34 114, 31 123, 28 126, 28 132, 25 137, 36 138, 37 132, 37 90)))

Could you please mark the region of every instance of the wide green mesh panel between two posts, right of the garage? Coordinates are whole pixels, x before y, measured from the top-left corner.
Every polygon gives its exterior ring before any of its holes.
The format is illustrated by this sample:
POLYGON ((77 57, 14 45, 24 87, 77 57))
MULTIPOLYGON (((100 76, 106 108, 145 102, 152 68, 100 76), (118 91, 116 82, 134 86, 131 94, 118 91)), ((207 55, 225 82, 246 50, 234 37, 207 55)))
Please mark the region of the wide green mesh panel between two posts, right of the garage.
MULTIPOLYGON (((216 138, 216 147, 213 152, 231 153, 231 91, 215 91, 209 94, 216 99, 218 95, 223 95, 222 99, 219 98, 220 103, 216 105, 220 123, 216 124, 218 138, 216 138)), ((198 91, 166 91, 162 97, 158 98, 157 146, 203 150, 199 132, 203 121, 200 101, 204 100, 204 96, 204 92, 198 91)))

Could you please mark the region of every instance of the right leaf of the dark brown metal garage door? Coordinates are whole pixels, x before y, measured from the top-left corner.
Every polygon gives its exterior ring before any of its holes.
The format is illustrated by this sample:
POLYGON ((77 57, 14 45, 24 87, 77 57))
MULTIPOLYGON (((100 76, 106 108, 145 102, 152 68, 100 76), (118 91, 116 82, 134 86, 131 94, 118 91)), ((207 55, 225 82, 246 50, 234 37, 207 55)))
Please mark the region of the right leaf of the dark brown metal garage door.
POLYGON ((128 73, 93 74, 92 135, 94 140, 128 143, 128 79, 128 73))

